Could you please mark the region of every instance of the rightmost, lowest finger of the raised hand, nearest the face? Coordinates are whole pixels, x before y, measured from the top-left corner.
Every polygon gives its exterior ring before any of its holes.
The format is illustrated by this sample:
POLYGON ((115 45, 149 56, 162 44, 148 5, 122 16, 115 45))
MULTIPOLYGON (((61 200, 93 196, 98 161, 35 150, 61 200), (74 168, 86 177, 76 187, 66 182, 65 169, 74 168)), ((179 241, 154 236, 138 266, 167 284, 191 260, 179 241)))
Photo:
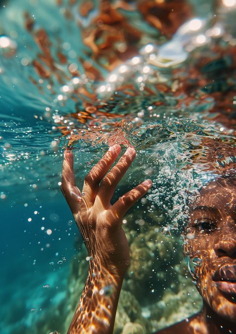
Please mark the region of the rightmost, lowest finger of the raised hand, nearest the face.
POLYGON ((113 216, 120 220, 124 214, 128 211, 128 209, 152 186, 152 181, 150 179, 145 180, 144 182, 137 185, 132 190, 126 192, 123 196, 121 196, 115 204, 113 204, 111 208, 111 213, 113 216))

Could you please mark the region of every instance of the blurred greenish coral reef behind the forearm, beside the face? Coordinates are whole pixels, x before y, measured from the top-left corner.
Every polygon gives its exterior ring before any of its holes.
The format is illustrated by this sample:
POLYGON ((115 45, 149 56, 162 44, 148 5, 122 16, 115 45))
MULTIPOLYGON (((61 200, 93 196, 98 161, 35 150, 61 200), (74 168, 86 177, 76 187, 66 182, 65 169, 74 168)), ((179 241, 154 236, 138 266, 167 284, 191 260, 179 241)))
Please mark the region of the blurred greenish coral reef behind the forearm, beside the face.
MULTIPOLYGON (((123 219, 131 264, 120 293, 114 334, 150 334, 201 309, 201 298, 187 277, 182 240, 161 233, 162 219, 156 213, 146 212, 142 218, 139 215, 140 211, 133 208, 123 219)), ((87 250, 79 238, 76 247, 66 298, 55 312, 52 310, 59 333, 69 327, 88 272, 87 250)), ((42 317, 37 323, 44 331, 40 333, 49 331, 47 324, 48 319, 42 317)))

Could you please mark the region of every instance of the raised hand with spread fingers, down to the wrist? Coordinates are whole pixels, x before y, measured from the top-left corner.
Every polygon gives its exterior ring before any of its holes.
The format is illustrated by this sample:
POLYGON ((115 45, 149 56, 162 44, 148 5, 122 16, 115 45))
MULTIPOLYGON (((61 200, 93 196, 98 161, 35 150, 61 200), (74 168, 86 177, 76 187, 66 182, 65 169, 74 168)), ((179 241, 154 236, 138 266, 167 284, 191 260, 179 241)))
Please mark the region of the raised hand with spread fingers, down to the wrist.
POLYGON ((122 229, 126 211, 151 187, 147 179, 111 204, 116 186, 135 158, 134 149, 128 148, 112 167, 120 153, 114 145, 85 177, 82 192, 75 184, 73 154, 65 151, 62 172, 62 192, 71 208, 91 259, 109 272, 122 275, 129 264, 129 248, 122 229))

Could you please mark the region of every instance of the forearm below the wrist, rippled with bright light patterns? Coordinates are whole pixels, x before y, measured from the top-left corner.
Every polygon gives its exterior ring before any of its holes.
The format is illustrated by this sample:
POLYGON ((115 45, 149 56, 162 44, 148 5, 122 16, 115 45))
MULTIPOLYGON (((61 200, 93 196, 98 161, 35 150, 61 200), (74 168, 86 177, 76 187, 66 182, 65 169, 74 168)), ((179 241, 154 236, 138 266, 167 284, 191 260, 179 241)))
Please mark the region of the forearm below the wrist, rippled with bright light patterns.
POLYGON ((90 260, 89 275, 67 334, 112 334, 123 274, 90 260))

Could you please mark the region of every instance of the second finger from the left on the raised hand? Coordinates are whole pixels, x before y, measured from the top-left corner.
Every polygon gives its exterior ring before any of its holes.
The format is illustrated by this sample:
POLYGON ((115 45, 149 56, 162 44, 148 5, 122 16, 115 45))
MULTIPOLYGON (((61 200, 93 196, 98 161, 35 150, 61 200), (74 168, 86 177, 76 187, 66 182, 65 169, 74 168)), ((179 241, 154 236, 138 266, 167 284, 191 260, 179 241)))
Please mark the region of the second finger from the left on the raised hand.
POLYGON ((83 199, 85 202, 94 203, 98 193, 99 183, 102 181, 104 176, 112 164, 117 160, 120 153, 120 146, 114 145, 110 147, 109 151, 103 156, 103 158, 90 170, 88 175, 85 177, 83 186, 83 199))

